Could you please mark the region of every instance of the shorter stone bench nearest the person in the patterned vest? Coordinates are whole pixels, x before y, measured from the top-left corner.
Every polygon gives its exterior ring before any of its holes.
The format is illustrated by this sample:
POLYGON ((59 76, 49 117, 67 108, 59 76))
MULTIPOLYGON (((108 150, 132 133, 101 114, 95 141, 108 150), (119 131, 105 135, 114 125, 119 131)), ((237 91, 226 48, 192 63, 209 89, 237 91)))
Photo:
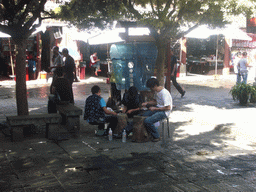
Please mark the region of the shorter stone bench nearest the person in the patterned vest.
POLYGON ((80 115, 83 114, 82 109, 69 103, 57 105, 57 111, 62 116, 61 124, 64 125, 70 133, 78 134, 80 131, 80 115))

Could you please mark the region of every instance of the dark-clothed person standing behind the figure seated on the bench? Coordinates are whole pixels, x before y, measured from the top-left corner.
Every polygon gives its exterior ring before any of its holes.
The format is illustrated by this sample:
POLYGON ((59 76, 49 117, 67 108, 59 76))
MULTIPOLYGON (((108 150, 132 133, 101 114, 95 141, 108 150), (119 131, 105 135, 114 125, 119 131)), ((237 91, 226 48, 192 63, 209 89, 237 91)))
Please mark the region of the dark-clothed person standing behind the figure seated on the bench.
POLYGON ((62 50, 62 54, 63 54, 63 57, 64 57, 64 67, 63 67, 64 78, 69 80, 70 89, 71 89, 71 93, 72 93, 71 103, 74 104, 74 94, 73 94, 72 85, 73 85, 73 82, 74 82, 74 74, 75 74, 75 70, 76 70, 75 60, 73 59, 73 57, 71 57, 69 55, 69 52, 68 52, 67 48, 64 48, 62 50))

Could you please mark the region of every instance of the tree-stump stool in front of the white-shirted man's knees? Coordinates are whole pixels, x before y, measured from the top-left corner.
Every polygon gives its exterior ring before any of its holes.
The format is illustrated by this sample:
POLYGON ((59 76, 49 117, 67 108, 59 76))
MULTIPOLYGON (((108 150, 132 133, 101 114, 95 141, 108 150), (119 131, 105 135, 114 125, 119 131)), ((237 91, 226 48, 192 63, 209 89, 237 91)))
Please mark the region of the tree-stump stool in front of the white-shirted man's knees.
POLYGON ((141 143, 147 142, 150 140, 150 134, 147 132, 146 127, 144 126, 144 120, 146 116, 133 116, 133 135, 132 141, 141 143))

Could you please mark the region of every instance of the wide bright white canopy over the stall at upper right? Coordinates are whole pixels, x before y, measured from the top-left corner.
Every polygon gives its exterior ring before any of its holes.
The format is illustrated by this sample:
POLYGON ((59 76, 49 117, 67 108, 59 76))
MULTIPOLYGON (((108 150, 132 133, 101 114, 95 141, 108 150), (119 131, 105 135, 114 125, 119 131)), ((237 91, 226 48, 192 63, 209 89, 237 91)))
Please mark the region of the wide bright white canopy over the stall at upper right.
POLYGON ((207 25, 201 25, 189 32, 187 35, 185 35, 185 37, 206 39, 211 35, 224 35, 227 39, 252 40, 252 38, 248 36, 246 32, 232 25, 215 29, 211 29, 207 25))

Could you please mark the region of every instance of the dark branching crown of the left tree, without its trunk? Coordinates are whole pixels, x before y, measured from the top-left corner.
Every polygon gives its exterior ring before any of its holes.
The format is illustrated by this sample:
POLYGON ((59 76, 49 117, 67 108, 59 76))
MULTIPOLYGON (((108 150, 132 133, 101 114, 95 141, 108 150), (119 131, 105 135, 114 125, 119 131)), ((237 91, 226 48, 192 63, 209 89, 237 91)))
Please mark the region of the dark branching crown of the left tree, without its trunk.
POLYGON ((27 39, 45 19, 46 1, 1 0, 0 31, 11 35, 13 39, 27 39))

